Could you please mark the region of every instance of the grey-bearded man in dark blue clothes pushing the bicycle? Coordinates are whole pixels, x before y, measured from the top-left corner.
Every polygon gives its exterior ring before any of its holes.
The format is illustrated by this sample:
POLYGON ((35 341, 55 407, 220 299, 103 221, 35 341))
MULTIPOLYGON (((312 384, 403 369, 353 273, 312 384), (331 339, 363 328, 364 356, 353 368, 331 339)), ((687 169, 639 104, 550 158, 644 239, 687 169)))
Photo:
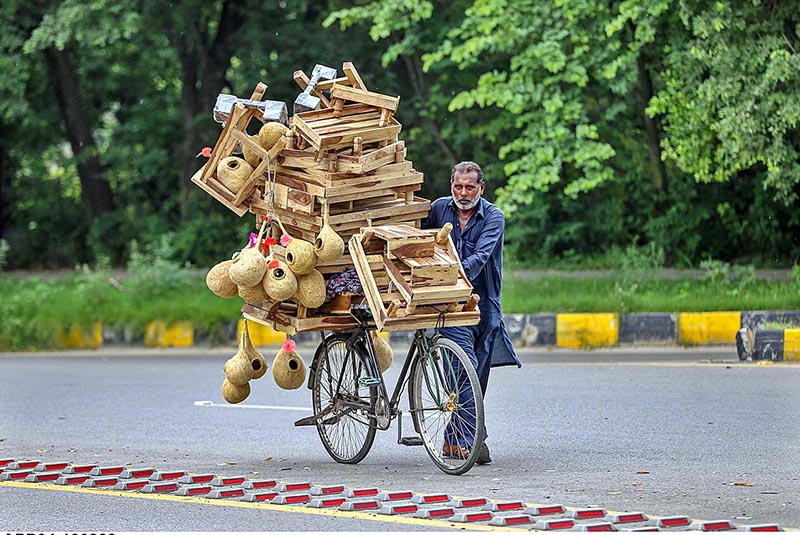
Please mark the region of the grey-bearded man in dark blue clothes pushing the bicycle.
MULTIPOLYGON (((452 197, 434 201, 428 218, 423 222, 425 228, 440 228, 445 223, 453 225, 450 237, 458 250, 464 272, 480 296, 480 323, 468 327, 445 327, 441 333, 457 343, 472 361, 484 397, 491 367, 522 366, 506 332, 500 304, 505 216, 497 206, 483 198, 485 189, 483 171, 478 164, 456 164, 450 175, 452 197)), ((469 454, 471 445, 471 442, 445 444, 443 453, 463 458, 469 454)), ((476 462, 492 462, 486 442, 476 462)))

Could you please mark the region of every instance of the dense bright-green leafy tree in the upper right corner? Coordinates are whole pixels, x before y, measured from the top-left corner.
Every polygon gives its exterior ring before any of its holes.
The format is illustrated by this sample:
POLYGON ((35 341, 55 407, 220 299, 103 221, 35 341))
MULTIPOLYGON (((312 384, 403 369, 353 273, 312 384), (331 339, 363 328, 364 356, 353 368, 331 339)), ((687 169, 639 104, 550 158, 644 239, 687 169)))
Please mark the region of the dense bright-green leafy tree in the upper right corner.
POLYGON ((800 15, 793 2, 675 2, 663 88, 665 156, 698 182, 756 180, 780 200, 800 184, 800 15))

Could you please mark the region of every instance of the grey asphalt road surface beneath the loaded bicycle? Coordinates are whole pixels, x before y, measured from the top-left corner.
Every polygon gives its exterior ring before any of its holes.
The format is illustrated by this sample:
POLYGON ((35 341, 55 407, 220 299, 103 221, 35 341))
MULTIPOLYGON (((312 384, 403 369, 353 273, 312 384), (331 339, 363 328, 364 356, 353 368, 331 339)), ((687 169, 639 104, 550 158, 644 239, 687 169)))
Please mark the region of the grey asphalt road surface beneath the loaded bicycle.
MULTIPOLYGON (((0 355, 0 459, 155 466, 800 526, 797 365, 742 364, 731 348, 526 351, 522 369, 492 375, 487 418, 495 462, 455 478, 438 472, 421 448, 397 445, 395 426, 378 435, 361 464, 333 463, 313 428, 292 425, 310 414, 309 392, 282 391, 269 376, 253 383, 244 406, 226 406, 219 388, 232 353, 0 355)), ((265 356, 269 361, 272 353, 265 356)), ((447 527, 130 496, 0 484, 0 529, 447 527)))

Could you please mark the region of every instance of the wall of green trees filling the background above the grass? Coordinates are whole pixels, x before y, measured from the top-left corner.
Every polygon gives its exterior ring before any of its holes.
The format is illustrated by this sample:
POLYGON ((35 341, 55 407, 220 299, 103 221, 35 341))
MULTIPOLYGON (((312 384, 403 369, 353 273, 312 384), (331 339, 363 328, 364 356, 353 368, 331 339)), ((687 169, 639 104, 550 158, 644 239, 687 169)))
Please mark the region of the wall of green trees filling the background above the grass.
POLYGON ((482 164, 508 251, 547 263, 663 250, 800 256, 800 17, 775 0, 8 0, 0 234, 11 268, 209 265, 246 236, 189 182, 218 92, 353 61, 399 95, 423 195, 482 164))

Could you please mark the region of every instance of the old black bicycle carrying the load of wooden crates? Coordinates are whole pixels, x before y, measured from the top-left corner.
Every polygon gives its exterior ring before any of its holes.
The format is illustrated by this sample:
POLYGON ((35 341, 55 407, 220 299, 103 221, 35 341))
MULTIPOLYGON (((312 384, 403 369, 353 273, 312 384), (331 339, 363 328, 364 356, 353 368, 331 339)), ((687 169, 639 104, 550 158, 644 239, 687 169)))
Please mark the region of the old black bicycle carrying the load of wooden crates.
POLYGON ((356 464, 369 453, 376 432, 389 429, 397 418, 398 444, 424 446, 447 474, 467 472, 475 464, 484 433, 483 397, 467 355, 440 336, 438 328, 432 336, 418 329, 390 397, 375 354, 371 335, 377 327, 369 306, 353 305, 350 313, 358 327, 328 336, 321 333, 308 380, 314 415, 295 425, 316 425, 335 461, 356 464), (406 383, 417 436, 402 436, 399 405, 406 383), (445 445, 452 444, 468 448, 469 453, 457 448, 445 451, 445 445))

